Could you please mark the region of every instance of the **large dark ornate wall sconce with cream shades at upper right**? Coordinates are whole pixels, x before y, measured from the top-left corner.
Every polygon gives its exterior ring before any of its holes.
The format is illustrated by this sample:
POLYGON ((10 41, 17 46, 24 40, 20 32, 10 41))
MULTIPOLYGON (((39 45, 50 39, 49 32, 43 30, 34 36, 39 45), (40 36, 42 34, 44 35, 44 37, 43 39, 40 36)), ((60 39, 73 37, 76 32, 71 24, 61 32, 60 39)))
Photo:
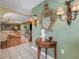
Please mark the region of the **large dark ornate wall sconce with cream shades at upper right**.
MULTIPOLYGON (((77 18, 78 15, 78 11, 79 11, 79 4, 77 3, 78 1, 75 2, 74 6, 72 7, 71 3, 74 0, 67 0, 65 1, 65 5, 67 6, 67 11, 66 11, 66 22, 68 25, 71 25, 72 21, 75 20, 77 18)), ((57 9, 57 15, 59 16, 59 18, 63 21, 63 15, 64 14, 64 10, 62 8, 58 8, 57 9)))

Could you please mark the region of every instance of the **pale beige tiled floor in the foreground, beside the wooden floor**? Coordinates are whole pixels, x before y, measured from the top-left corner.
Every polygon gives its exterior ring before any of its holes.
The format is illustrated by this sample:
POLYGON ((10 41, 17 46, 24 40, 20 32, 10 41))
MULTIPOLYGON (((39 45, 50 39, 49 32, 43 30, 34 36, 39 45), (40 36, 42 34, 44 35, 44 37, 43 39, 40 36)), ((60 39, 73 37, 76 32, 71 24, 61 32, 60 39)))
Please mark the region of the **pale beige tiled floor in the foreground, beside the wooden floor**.
MULTIPOLYGON (((0 59, 37 59, 37 51, 31 48, 30 44, 1 49, 0 59)), ((46 59, 43 55, 40 59, 46 59)))

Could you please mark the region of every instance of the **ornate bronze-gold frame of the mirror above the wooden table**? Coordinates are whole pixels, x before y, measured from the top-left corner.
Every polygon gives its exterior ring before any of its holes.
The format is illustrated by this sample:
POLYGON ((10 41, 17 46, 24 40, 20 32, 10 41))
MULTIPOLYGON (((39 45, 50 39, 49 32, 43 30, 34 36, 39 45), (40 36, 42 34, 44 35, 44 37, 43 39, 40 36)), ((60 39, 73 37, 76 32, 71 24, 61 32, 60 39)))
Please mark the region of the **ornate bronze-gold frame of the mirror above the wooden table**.
POLYGON ((46 3, 44 5, 44 9, 43 9, 43 12, 41 14, 41 19, 40 19, 40 24, 41 24, 41 27, 43 29, 45 29, 46 31, 52 31, 52 27, 53 27, 53 24, 55 23, 56 21, 56 12, 54 10, 51 10, 48 6, 48 4, 46 3), (44 26, 44 23, 43 23, 43 20, 45 20, 46 17, 49 17, 49 20, 50 23, 48 26, 44 26))

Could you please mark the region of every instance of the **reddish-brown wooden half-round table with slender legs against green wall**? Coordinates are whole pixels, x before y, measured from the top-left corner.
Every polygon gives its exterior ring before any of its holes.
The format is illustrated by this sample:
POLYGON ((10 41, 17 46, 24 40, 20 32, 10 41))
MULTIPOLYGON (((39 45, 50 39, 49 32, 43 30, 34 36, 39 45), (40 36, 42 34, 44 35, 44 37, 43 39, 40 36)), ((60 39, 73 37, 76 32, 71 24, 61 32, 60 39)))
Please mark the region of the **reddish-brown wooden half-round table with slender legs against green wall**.
POLYGON ((45 48, 46 58, 47 58, 47 49, 54 48, 54 59, 56 59, 56 45, 57 45, 56 41, 54 41, 54 40, 42 41, 41 38, 38 38, 38 39, 36 39, 36 45, 38 47, 38 59, 40 59, 41 48, 45 48))

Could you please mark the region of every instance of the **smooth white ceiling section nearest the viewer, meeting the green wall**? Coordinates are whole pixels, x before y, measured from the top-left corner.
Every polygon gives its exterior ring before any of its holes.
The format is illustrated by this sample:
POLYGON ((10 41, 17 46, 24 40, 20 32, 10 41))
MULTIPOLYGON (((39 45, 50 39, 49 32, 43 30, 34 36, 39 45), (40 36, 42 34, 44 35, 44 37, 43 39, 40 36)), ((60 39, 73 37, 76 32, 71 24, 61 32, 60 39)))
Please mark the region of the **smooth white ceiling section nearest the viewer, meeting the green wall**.
POLYGON ((32 8, 44 0, 0 0, 0 7, 7 7, 22 14, 30 15, 32 8))

